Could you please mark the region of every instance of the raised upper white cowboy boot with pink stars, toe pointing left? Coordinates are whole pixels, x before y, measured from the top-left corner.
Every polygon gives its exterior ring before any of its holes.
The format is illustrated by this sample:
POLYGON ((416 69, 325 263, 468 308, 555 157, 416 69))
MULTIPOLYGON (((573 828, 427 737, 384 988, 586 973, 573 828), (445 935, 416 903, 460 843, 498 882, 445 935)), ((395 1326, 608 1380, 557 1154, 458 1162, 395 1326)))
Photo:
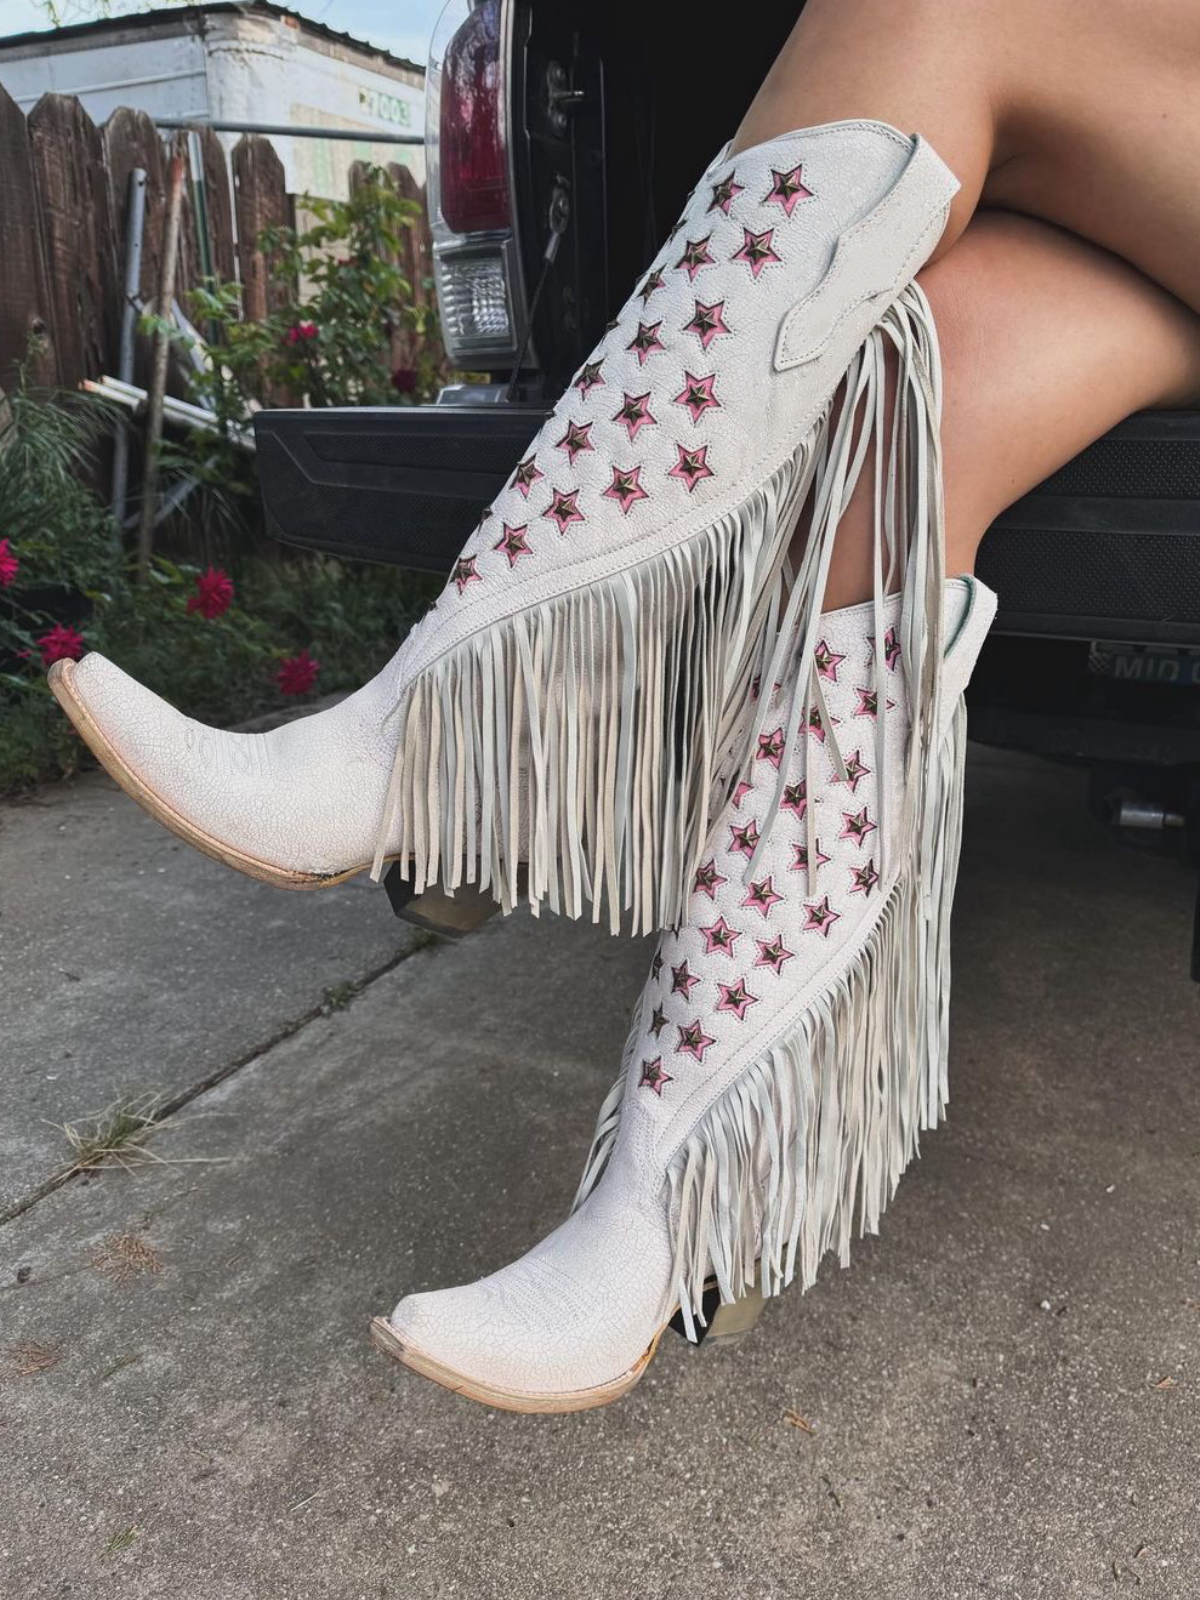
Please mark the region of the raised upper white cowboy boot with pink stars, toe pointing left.
POLYGON ((363 690, 235 734, 98 654, 53 667, 154 816, 286 888, 400 859, 418 893, 478 883, 509 909, 525 858, 534 906, 606 902, 637 930, 682 915, 797 507, 840 466, 838 384, 872 330, 936 379, 907 286, 958 187, 875 122, 726 152, 363 690))

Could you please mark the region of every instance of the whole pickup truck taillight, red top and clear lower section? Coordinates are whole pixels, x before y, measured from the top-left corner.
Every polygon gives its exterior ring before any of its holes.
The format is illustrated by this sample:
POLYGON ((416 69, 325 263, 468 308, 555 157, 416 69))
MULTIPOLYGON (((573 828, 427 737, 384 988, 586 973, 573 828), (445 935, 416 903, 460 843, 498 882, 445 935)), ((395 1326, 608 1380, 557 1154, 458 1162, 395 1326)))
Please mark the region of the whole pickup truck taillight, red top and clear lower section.
POLYGON ((426 158, 442 336, 459 366, 517 358, 525 296, 509 158, 512 0, 450 0, 429 45, 426 158))

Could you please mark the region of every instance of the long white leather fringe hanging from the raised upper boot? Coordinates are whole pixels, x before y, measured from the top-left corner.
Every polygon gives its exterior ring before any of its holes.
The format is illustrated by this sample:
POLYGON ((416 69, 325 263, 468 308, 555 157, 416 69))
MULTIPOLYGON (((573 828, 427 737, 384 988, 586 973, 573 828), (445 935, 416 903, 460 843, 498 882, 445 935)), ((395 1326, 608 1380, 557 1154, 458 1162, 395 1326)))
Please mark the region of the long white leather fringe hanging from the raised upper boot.
MULTIPOLYGON (((677 923, 714 814, 752 755, 750 683, 778 675, 784 597, 789 613, 803 603, 819 614, 832 530, 866 459, 869 429, 851 426, 859 402, 882 406, 891 342, 907 430, 910 397, 928 392, 931 330, 910 285, 843 379, 848 403, 838 413, 830 402, 734 512, 472 635, 408 683, 390 714, 397 757, 373 875, 398 848, 418 893, 478 883, 507 912, 525 862, 534 910, 546 901, 579 917, 590 906, 600 922, 606 906, 613 933, 626 918, 634 933, 677 923), (829 538, 810 541, 794 582, 784 568, 810 491, 829 538)), ((894 456, 893 445, 893 469, 894 456)), ((792 738, 806 704, 794 707, 792 738)))

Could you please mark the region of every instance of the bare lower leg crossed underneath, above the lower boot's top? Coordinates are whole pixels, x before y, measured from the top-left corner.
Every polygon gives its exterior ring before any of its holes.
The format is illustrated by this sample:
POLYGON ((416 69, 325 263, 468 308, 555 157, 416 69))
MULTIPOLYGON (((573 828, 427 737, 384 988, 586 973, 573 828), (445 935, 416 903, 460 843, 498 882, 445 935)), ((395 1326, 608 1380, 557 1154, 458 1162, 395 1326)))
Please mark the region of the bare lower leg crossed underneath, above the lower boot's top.
MULTIPOLYGON (((1125 261, 981 211, 920 275, 942 347, 946 571, 995 517, 1131 411, 1200 397, 1200 317, 1125 261)), ((870 594, 872 485, 851 501, 827 605, 870 594)))

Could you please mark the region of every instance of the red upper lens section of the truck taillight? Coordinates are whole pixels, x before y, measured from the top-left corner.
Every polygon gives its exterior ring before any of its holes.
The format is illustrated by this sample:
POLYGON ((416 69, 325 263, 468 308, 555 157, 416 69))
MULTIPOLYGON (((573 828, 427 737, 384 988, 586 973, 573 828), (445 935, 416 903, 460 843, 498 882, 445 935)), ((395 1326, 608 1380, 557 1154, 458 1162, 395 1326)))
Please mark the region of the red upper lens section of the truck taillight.
POLYGON ((483 0, 454 29, 442 62, 442 216, 456 234, 512 222, 501 37, 499 0, 483 0))

